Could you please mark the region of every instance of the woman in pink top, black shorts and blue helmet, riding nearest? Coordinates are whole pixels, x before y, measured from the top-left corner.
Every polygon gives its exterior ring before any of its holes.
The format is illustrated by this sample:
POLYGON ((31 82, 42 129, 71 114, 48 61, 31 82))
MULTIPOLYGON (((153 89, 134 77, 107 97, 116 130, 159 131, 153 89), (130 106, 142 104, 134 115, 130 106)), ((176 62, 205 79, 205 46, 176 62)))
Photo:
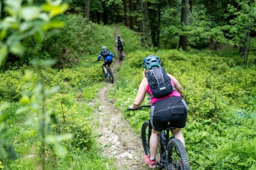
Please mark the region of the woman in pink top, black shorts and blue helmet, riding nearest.
MULTIPOLYGON (((161 67, 161 62, 159 57, 150 55, 145 57, 142 66, 144 68, 144 78, 140 83, 137 96, 134 99, 133 104, 129 107, 130 109, 138 108, 143 102, 146 93, 152 94, 145 74, 149 69, 161 67)), ((155 156, 160 142, 160 133, 168 122, 170 122, 172 127, 176 127, 174 130, 171 130, 172 134, 175 138, 180 139, 185 146, 185 140, 181 132, 181 128, 186 126, 186 102, 181 97, 183 90, 180 83, 172 75, 168 75, 171 78, 172 86, 174 86, 176 90, 162 98, 151 97, 150 122, 153 128, 149 141, 151 155, 145 156, 145 163, 147 163, 149 167, 157 167, 155 156)))

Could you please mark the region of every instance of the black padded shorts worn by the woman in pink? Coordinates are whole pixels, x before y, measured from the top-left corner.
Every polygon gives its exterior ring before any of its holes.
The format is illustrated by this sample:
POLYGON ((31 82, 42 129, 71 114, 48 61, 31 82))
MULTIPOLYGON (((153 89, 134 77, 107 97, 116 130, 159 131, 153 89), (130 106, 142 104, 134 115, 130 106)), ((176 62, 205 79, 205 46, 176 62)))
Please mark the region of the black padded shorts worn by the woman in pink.
POLYGON ((183 128, 186 126, 187 105, 179 96, 154 102, 150 108, 150 122, 154 130, 162 131, 170 122, 172 127, 183 128))

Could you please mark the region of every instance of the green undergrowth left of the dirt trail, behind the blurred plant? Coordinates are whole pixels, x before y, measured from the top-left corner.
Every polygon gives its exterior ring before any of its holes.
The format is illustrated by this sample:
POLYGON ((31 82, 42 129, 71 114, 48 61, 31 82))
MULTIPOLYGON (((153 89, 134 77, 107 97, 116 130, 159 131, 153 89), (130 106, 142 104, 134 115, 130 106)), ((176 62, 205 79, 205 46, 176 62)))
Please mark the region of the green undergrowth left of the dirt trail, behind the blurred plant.
MULTIPOLYGON (((21 102, 23 93, 32 93, 39 82, 43 82, 49 91, 58 86, 57 94, 47 99, 47 110, 51 110, 56 119, 51 122, 52 135, 73 133, 71 140, 61 142, 67 154, 58 157, 53 145, 47 144, 47 170, 114 170, 114 159, 100 154, 94 135, 95 125, 92 124, 95 108, 90 104, 100 88, 106 84, 102 81, 102 62, 95 62, 102 45, 114 50, 113 26, 99 26, 93 23, 83 25, 84 18, 75 15, 62 16, 67 20, 66 26, 59 34, 49 37, 47 48, 53 58, 59 59, 58 67, 44 67, 42 71, 34 66, 19 65, 12 70, 0 72, 0 105, 9 103, 1 119, 7 125, 7 132, 1 134, 12 143, 19 154, 19 159, 5 159, 7 170, 41 169, 40 141, 37 130, 29 122, 29 113, 15 113, 26 106, 21 102), (55 49, 55 51, 54 51, 55 49), (65 50, 64 50, 65 49, 65 50), (65 57, 62 61, 61 57, 65 57), (68 65, 66 63, 69 63, 68 65), (31 81, 28 82, 27 75, 31 81), (41 78, 42 77, 42 80, 41 78), (28 84, 29 83, 29 84, 28 84)), ((30 100, 29 98, 27 99, 30 100)))

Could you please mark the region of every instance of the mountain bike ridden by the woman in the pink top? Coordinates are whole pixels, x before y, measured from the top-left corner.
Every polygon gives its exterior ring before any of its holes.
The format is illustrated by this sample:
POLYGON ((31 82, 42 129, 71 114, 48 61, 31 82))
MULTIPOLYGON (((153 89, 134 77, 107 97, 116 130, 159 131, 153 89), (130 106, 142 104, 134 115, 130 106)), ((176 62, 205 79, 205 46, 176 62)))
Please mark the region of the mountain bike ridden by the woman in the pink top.
MULTIPOLYGON (((128 108, 127 111, 141 110, 143 108, 150 108, 150 105, 143 105, 137 109, 128 108)), ((170 130, 173 129, 175 129, 175 127, 168 124, 160 134, 160 143, 156 156, 156 159, 159 160, 159 162, 157 162, 157 169, 190 170, 189 159, 184 145, 179 139, 170 136, 170 130)), ((145 121, 141 127, 141 140, 146 155, 150 155, 149 139, 151 131, 152 126, 149 119, 145 121)))

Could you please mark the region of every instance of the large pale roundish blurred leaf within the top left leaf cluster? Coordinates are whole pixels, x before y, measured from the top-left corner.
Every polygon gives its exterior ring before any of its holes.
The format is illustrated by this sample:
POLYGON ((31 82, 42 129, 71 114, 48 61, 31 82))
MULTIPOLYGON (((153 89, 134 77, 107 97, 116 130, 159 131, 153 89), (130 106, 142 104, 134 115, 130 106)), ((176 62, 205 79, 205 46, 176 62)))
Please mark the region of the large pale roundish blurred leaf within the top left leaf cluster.
POLYGON ((28 6, 22 8, 20 15, 24 20, 35 20, 39 14, 41 9, 37 6, 28 6))

